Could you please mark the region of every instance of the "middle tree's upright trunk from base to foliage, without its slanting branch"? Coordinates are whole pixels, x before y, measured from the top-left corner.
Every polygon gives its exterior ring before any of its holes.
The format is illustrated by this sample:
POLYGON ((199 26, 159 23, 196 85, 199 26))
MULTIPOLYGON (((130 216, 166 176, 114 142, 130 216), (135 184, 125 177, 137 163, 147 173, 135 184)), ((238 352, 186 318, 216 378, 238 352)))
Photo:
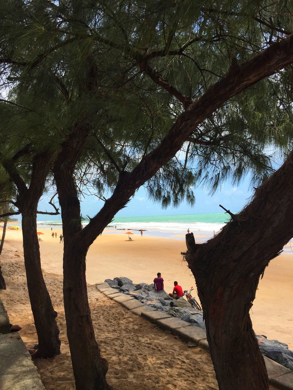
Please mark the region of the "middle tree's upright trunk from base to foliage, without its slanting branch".
POLYGON ((87 128, 77 128, 65 142, 54 165, 64 235, 63 298, 67 337, 77 390, 110 390, 105 375, 108 363, 100 355, 95 340, 86 286, 88 246, 80 241, 80 203, 73 171, 75 161, 87 140, 87 128), (70 142, 73 142, 75 149, 70 142))

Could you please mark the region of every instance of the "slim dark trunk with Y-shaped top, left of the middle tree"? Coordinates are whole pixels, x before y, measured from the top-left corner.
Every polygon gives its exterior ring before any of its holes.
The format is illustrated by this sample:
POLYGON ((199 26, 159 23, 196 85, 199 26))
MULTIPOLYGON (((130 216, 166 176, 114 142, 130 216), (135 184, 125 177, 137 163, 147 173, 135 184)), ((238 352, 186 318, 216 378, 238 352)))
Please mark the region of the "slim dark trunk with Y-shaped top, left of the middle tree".
POLYGON ((43 151, 32 161, 30 186, 27 188, 12 159, 3 159, 1 164, 18 189, 14 202, 22 214, 23 255, 27 275, 27 287, 34 323, 38 334, 38 351, 32 358, 47 358, 60 353, 59 329, 56 323, 50 295, 41 269, 41 258, 37 236, 37 206, 45 187, 46 176, 52 166, 54 154, 43 151))

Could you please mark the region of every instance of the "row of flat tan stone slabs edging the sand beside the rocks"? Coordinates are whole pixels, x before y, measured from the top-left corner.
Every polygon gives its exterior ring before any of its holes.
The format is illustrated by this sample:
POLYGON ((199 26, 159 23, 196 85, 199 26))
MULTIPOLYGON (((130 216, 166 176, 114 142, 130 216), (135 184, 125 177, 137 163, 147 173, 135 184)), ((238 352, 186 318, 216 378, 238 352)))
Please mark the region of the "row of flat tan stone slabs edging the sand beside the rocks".
MULTIPOLYGON (((180 337, 180 339, 186 342, 192 342, 195 346, 209 351, 206 334, 202 328, 192 326, 186 321, 182 321, 179 318, 164 314, 153 307, 144 305, 132 296, 125 295, 120 293, 120 291, 113 289, 108 283, 96 283, 96 288, 100 293, 103 293, 113 301, 120 303, 133 314, 147 319, 164 330, 168 330, 173 335, 180 337)), ((271 385, 280 390, 293 390, 293 371, 274 362, 266 356, 264 356, 264 362, 266 363, 271 385)))

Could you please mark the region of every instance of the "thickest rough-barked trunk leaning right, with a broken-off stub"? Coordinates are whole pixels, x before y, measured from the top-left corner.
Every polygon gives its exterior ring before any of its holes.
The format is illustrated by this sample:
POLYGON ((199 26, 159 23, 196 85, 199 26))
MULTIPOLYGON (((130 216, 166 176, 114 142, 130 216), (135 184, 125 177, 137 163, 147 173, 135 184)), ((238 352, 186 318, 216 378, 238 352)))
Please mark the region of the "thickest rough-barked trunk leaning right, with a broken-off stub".
POLYGON ((292 161, 293 153, 216 238, 198 245, 186 235, 220 390, 268 390, 249 310, 259 277, 293 236, 292 161))

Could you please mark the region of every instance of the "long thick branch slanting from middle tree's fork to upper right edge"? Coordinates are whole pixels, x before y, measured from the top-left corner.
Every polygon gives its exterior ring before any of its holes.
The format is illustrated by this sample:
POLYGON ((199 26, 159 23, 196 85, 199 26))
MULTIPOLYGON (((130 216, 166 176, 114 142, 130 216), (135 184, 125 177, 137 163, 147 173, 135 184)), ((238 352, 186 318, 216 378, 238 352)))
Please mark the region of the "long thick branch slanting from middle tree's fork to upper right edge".
POLYGON ((232 96, 292 62, 293 36, 290 35, 287 39, 273 43, 262 53, 239 64, 237 69, 230 68, 226 76, 211 86, 187 111, 179 115, 159 146, 147 154, 132 172, 121 172, 113 195, 80 232, 80 239, 84 240, 84 244, 90 246, 93 243, 114 215, 125 207, 134 192, 175 156, 194 129, 218 107, 232 96))

